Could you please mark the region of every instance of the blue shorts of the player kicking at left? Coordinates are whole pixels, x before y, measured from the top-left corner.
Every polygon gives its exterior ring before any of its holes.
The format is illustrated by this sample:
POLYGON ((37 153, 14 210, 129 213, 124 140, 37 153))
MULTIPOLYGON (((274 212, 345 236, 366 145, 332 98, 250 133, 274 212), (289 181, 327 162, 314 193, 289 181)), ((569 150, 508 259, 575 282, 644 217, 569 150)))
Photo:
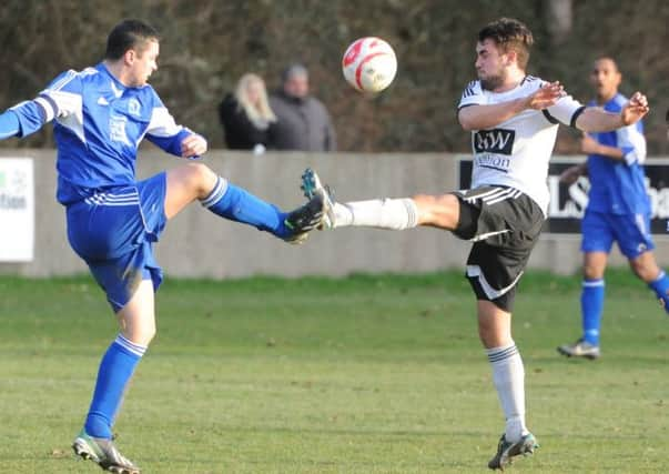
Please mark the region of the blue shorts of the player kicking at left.
POLYGON ((142 280, 156 291, 162 270, 153 256, 153 242, 168 219, 164 211, 166 174, 132 185, 104 188, 68 205, 70 245, 89 265, 114 312, 121 310, 142 280))

